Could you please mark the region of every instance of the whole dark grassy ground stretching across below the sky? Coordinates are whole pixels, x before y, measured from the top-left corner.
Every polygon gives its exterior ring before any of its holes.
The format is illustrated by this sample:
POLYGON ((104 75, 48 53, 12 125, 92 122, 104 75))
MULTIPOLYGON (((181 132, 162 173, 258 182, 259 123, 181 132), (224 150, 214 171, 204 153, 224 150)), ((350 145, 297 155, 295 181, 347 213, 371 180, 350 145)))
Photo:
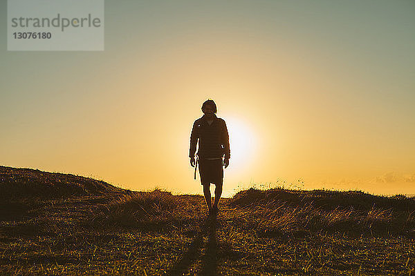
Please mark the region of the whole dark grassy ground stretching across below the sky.
POLYGON ((203 197, 0 166, 1 275, 410 275, 415 199, 358 191, 203 197))

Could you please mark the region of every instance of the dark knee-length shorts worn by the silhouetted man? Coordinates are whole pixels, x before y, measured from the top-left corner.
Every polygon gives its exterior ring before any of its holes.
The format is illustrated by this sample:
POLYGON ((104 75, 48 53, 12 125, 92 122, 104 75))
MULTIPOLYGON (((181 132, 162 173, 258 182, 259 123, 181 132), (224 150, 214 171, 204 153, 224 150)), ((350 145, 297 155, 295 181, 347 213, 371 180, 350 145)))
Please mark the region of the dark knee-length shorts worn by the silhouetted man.
POLYGON ((201 184, 223 184, 222 164, 222 159, 199 159, 199 173, 201 175, 201 184))

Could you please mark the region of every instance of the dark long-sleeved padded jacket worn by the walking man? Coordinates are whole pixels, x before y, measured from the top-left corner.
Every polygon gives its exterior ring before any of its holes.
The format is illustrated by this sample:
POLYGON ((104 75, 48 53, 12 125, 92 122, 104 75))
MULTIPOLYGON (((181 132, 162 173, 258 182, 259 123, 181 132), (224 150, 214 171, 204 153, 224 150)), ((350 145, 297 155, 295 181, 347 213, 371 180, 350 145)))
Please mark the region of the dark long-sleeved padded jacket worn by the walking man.
POLYGON ((192 134, 190 135, 190 157, 194 157, 196 144, 199 139, 200 158, 219 158, 225 155, 230 158, 229 135, 225 121, 214 115, 211 125, 208 124, 206 116, 194 121, 192 134))

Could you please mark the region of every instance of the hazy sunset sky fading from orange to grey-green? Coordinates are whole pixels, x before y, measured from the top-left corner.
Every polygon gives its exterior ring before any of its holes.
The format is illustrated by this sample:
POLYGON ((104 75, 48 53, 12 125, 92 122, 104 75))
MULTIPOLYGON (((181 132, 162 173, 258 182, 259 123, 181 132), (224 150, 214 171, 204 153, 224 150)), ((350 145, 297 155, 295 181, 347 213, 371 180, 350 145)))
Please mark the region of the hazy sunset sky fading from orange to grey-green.
POLYGON ((105 1, 104 51, 7 50, 0 165, 202 193, 213 99, 243 188, 415 194, 414 1, 105 1))

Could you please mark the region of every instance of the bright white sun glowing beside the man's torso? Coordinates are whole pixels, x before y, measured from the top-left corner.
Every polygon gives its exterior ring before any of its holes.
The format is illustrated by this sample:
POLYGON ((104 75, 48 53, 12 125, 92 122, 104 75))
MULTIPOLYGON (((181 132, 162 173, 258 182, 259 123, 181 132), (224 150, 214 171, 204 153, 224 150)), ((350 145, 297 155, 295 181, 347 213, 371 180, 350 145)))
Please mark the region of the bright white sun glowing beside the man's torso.
POLYGON ((234 117, 226 117, 230 142, 230 161, 232 168, 248 166, 255 156, 255 133, 246 122, 234 117))

